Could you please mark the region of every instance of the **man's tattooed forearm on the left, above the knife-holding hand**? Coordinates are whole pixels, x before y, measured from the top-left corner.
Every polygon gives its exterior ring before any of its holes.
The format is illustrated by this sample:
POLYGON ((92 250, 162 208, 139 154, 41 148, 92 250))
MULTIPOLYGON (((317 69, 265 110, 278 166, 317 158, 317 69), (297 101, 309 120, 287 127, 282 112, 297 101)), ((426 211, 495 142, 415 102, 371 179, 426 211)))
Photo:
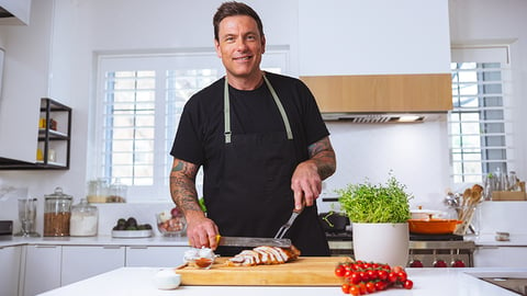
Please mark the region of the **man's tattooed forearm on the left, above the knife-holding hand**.
POLYGON ((173 202, 183 213, 201 210, 195 191, 198 166, 179 159, 173 160, 170 171, 170 194, 173 202))

